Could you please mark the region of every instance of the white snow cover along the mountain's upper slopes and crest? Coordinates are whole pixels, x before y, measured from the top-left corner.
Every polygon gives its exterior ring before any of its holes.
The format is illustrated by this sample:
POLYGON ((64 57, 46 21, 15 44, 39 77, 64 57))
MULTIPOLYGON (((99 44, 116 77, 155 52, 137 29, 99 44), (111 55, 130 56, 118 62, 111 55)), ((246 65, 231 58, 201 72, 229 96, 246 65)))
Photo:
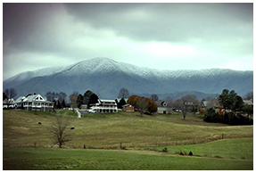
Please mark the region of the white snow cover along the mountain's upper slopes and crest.
MULTIPOLYGON (((6 79, 4 82, 28 80, 29 78, 49 76, 56 73, 62 75, 74 76, 94 73, 107 73, 123 71, 128 75, 137 75, 142 78, 192 78, 192 77, 207 77, 207 76, 221 76, 227 73, 232 73, 235 70, 225 69, 208 69, 208 70, 155 70, 146 67, 139 67, 136 65, 115 62, 109 58, 94 58, 83 62, 77 62, 68 67, 54 67, 44 68, 34 71, 26 71, 20 73, 12 78, 6 79)), ((239 71, 235 71, 239 72, 239 71)), ((243 71, 241 71, 243 72, 243 71)))

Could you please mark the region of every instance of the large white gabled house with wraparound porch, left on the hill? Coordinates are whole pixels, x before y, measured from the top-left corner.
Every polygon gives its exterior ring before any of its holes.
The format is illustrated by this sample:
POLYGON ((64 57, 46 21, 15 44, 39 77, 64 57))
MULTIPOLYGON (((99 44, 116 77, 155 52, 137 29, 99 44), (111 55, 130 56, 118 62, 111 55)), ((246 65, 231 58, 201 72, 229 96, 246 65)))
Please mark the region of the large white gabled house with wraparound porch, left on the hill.
POLYGON ((53 111, 54 103, 46 101, 42 95, 28 95, 20 96, 15 102, 14 106, 18 109, 28 111, 53 111))

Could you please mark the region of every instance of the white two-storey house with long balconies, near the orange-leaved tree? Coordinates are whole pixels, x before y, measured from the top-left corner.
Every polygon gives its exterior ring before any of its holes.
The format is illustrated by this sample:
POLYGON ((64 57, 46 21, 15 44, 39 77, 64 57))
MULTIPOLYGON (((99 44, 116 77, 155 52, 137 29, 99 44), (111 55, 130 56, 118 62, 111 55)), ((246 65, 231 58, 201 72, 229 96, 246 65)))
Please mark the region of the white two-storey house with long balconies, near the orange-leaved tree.
POLYGON ((118 112, 118 105, 114 100, 98 100, 98 103, 95 103, 90 108, 92 111, 100 113, 111 113, 118 112))

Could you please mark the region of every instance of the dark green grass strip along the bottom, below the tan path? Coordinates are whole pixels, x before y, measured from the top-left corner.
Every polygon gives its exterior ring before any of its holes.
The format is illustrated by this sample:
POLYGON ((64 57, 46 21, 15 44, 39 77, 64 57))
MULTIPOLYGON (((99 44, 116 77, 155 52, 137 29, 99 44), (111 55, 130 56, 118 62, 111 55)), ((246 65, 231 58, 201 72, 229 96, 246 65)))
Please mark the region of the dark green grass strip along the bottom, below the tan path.
POLYGON ((12 170, 244 170, 253 161, 169 155, 162 152, 4 148, 3 169, 12 170))

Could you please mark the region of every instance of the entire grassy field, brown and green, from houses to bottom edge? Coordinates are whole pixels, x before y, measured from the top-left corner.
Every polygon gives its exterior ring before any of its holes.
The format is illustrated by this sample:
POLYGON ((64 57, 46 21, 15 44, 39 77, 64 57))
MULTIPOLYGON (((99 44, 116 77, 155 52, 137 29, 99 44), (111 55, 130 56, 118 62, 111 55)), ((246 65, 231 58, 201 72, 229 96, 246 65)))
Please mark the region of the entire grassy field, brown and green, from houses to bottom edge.
POLYGON ((253 126, 207 123, 194 114, 184 120, 120 111, 78 119, 63 110, 3 111, 4 169, 253 169, 252 137, 253 126), (50 133, 56 115, 75 128, 65 149, 55 148, 50 133), (128 150, 118 150, 120 143, 128 150))

